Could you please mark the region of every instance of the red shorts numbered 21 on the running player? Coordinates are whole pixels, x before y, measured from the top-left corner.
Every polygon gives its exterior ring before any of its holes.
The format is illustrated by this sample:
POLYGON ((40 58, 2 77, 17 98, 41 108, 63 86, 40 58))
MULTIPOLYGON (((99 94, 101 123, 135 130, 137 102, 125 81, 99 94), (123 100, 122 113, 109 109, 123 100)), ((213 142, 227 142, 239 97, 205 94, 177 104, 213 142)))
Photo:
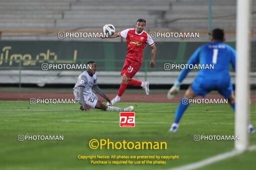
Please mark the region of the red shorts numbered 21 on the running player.
POLYGON ((139 71, 141 65, 142 64, 139 63, 139 61, 126 57, 121 70, 121 75, 125 74, 129 78, 133 78, 139 71))

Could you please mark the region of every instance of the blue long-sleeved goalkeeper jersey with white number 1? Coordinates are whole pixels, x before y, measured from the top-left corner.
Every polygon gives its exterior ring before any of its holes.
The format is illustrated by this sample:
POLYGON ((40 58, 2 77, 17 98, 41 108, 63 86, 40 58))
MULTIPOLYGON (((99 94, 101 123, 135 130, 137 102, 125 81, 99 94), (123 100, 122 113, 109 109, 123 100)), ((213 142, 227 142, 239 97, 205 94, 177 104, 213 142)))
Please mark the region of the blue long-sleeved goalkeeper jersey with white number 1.
MULTIPOLYGON (((230 79, 229 64, 235 70, 235 50, 223 42, 211 42, 200 46, 189 58, 187 64, 214 65, 213 69, 200 69, 196 77, 204 80, 230 79)), ((182 82, 189 68, 184 68, 178 81, 182 82)))

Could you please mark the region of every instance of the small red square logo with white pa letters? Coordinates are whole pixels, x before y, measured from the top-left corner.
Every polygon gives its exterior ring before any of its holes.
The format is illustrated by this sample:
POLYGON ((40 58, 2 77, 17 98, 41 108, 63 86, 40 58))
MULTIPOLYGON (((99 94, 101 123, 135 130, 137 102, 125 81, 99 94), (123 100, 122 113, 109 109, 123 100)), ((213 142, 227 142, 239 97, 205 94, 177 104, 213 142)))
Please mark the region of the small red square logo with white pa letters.
POLYGON ((120 127, 135 127, 135 112, 120 112, 120 127))

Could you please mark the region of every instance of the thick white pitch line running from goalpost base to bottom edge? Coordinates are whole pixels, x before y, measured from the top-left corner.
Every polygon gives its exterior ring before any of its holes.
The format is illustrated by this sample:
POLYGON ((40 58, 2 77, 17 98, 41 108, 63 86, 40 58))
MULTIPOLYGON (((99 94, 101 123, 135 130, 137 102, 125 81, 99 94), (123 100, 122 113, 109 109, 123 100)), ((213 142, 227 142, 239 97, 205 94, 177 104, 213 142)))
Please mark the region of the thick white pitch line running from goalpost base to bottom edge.
POLYGON ((179 166, 179 167, 174 167, 174 168, 171 168, 170 170, 196 169, 196 168, 200 168, 200 167, 215 163, 215 162, 220 161, 220 160, 224 160, 224 159, 229 158, 229 157, 236 156, 236 155, 241 154, 241 153, 243 153, 243 151, 231 150, 231 151, 228 151, 228 152, 224 152, 224 153, 217 154, 215 156, 200 160, 198 162, 189 163, 187 165, 183 165, 183 166, 179 166))

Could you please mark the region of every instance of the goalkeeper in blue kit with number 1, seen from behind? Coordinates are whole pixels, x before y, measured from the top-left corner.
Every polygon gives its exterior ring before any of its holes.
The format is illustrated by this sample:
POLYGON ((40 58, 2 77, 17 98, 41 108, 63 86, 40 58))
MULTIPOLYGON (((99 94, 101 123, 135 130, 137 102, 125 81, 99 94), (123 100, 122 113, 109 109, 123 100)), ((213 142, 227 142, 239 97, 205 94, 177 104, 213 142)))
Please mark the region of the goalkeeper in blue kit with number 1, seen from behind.
MULTIPOLYGON (((213 29, 211 36, 212 42, 197 48, 197 50, 188 60, 187 64, 214 64, 214 68, 200 69, 195 80, 188 87, 184 96, 181 98, 175 112, 174 122, 169 130, 171 132, 178 130, 179 121, 189 106, 189 103, 182 102, 184 98, 191 99, 197 95, 205 97, 205 95, 211 90, 217 90, 225 99, 228 100, 228 103, 231 105, 232 109, 235 110, 235 96, 233 94, 233 87, 229 75, 229 64, 231 63, 235 70, 236 52, 231 46, 223 43, 225 41, 223 29, 213 29)), ((181 82, 187 76, 189 71, 189 68, 184 68, 180 72, 176 82, 168 91, 167 97, 169 99, 172 99, 174 95, 177 94, 180 89, 181 82)), ((251 124, 248 124, 248 131, 249 133, 254 132, 251 124)))

